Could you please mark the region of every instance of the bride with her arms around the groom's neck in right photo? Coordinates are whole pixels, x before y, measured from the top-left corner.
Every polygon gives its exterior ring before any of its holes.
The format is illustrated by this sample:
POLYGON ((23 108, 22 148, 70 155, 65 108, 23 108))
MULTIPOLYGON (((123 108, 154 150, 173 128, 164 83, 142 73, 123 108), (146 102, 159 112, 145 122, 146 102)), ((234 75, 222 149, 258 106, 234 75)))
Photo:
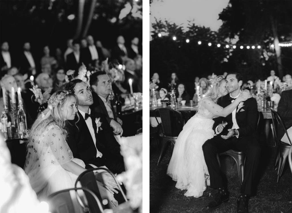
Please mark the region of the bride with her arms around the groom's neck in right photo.
POLYGON ((218 98, 226 95, 225 76, 213 79, 213 87, 199 102, 197 113, 185 124, 178 135, 173 154, 167 169, 167 175, 177 181, 175 187, 187 189, 185 196, 198 198, 203 195, 206 185, 210 185, 209 172, 204 160, 202 145, 213 138, 212 129, 215 117, 226 117, 239 102, 249 98, 249 92, 242 94, 233 103, 223 108, 216 104, 218 98))

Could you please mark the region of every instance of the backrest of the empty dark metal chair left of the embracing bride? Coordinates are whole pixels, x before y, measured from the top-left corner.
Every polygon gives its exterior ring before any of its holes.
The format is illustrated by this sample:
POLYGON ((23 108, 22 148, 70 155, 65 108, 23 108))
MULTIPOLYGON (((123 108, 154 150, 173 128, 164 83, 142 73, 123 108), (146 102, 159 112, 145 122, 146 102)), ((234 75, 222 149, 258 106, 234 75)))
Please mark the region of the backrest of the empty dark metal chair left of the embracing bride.
MULTIPOLYGON (((157 113, 159 112, 162 124, 163 134, 168 137, 177 137, 183 130, 184 119, 183 115, 178 110, 159 108, 154 110, 154 115, 157 120, 157 113)), ((158 120, 157 120, 158 123, 158 120)))

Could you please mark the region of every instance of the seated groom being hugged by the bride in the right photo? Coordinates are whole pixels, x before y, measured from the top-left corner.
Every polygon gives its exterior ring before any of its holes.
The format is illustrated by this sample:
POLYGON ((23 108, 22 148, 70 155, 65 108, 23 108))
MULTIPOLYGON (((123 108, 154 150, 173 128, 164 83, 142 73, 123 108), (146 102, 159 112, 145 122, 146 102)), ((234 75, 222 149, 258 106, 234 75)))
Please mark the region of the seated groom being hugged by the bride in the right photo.
MULTIPOLYGON (((230 73, 226 77, 226 89, 229 94, 218 100, 218 105, 226 107, 239 96, 243 83, 242 75, 230 73)), ((204 158, 210 174, 210 186, 218 192, 207 203, 208 209, 219 207, 229 199, 229 192, 224 187, 223 177, 217 154, 229 149, 236 149, 246 154, 244 178, 240 194, 237 198, 237 212, 248 212, 248 198, 260 160, 260 145, 256 134, 258 121, 258 105, 254 98, 240 103, 227 117, 214 119, 213 129, 216 135, 202 146, 204 158), (226 124, 227 122, 227 124, 226 124)))

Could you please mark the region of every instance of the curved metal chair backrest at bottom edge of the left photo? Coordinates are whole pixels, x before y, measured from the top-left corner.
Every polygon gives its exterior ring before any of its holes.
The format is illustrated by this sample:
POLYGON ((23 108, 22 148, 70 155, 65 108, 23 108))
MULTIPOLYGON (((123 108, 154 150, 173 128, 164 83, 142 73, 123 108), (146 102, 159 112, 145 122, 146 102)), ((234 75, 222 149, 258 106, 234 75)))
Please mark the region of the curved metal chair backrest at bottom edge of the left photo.
POLYGON ((86 188, 70 188, 61 191, 57 191, 48 196, 49 211, 51 213, 83 213, 83 212, 103 212, 102 206, 96 195, 86 188), (95 200, 92 206, 94 209, 84 206, 84 203, 80 203, 80 194, 77 190, 86 192, 86 199, 93 197, 95 200))

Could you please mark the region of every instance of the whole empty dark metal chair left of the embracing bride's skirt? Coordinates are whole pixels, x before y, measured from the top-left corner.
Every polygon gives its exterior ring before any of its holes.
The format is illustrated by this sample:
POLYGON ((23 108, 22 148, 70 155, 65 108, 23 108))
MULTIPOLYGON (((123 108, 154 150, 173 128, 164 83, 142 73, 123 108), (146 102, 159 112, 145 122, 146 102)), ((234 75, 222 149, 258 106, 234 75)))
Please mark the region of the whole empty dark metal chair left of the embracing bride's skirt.
POLYGON ((162 125, 161 133, 161 150, 159 159, 157 161, 157 166, 161 161, 161 157, 164 153, 167 142, 172 142, 175 145, 175 141, 178 138, 179 133, 183 130, 184 119, 182 114, 178 110, 168 109, 168 108, 159 108, 154 110, 155 119, 157 119, 157 111, 159 112, 162 125))

